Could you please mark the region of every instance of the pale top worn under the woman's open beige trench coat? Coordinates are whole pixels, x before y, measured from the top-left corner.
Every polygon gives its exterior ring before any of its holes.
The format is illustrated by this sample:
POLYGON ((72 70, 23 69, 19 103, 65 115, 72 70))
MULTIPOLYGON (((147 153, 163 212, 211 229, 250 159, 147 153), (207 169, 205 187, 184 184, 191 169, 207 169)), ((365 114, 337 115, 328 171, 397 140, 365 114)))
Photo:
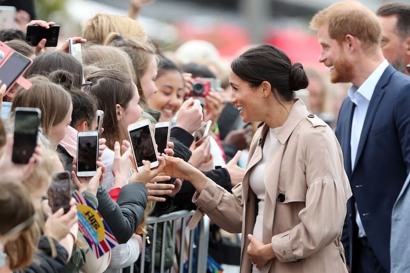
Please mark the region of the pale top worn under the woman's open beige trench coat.
MULTIPOLYGON (((278 150, 280 146, 279 140, 276 136, 281 127, 269 129, 269 133, 266 136, 265 143, 262 148, 262 159, 253 167, 249 175, 249 185, 252 191, 258 198, 258 214, 256 216, 255 225, 253 227, 253 236, 258 240, 262 240, 263 230, 263 207, 265 203, 265 183, 264 183, 264 170, 265 165, 272 158, 272 155, 278 150)), ((253 266, 252 272, 259 272, 256 266, 253 266)))

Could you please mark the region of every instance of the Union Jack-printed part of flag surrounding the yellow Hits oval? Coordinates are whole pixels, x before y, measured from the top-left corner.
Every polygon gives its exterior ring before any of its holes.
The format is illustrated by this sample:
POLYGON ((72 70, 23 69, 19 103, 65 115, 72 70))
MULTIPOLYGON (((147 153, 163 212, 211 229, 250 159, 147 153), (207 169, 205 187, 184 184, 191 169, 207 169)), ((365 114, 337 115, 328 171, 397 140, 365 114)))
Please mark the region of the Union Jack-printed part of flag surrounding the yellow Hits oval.
POLYGON ((98 259, 99 257, 103 256, 105 253, 110 251, 110 249, 112 249, 114 246, 118 245, 118 241, 117 239, 115 239, 107 223, 104 221, 103 216, 99 214, 97 209, 78 191, 75 191, 72 195, 78 204, 87 205, 91 207, 97 213, 97 215, 101 218, 101 221, 104 224, 104 239, 102 241, 95 242, 91 234, 89 234, 89 232, 87 231, 87 228, 83 225, 83 223, 80 222, 80 218, 81 217, 84 218, 83 214, 77 211, 78 227, 80 228, 81 233, 84 234, 84 238, 86 239, 87 243, 89 244, 90 248, 93 250, 95 256, 98 259))

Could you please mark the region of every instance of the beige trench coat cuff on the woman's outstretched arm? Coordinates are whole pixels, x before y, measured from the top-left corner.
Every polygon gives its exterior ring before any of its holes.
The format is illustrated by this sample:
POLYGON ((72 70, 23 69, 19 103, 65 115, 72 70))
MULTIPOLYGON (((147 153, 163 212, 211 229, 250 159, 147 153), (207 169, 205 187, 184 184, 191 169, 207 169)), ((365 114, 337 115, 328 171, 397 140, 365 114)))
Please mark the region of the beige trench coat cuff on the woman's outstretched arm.
POLYGON ((192 202, 195 203, 202 212, 212 212, 223 196, 223 188, 218 186, 214 181, 208 179, 203 186, 201 193, 195 192, 192 202))

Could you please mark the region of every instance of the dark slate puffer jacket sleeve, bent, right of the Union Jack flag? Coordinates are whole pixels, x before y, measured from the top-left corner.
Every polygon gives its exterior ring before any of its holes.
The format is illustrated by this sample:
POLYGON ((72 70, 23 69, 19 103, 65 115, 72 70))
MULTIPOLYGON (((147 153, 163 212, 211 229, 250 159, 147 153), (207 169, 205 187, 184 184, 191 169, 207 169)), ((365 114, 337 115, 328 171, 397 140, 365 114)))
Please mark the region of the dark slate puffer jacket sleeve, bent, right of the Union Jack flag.
POLYGON ((104 187, 98 187, 98 212, 103 216, 118 243, 126 243, 144 218, 148 191, 142 183, 129 183, 121 188, 117 202, 104 187))

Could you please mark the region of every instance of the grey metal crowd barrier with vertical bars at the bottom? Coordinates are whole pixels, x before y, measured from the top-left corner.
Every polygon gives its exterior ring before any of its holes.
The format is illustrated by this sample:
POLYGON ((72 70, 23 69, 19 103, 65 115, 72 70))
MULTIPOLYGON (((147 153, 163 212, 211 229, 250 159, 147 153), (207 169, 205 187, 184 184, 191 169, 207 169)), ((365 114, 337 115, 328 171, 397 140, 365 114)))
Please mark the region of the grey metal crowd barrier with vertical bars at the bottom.
MULTIPOLYGON (((178 211, 173 212, 170 214, 162 215, 160 217, 148 217, 147 218, 147 225, 152 226, 153 228, 153 238, 150 238, 152 251, 151 251, 151 273, 154 272, 165 272, 164 264, 165 264, 165 243, 167 241, 167 226, 171 225, 172 227, 172 242, 174 246, 174 256, 177 255, 178 261, 178 271, 179 273, 184 272, 184 264, 186 262, 185 254, 186 250, 188 250, 188 273, 196 272, 206 272, 207 271, 207 257, 208 257, 208 241, 209 241, 209 225, 210 219, 207 216, 202 217, 201 221, 198 224, 198 233, 197 233, 197 242, 194 241, 194 232, 195 230, 189 231, 189 241, 188 241, 188 249, 186 249, 186 228, 188 226, 188 220, 194 214, 194 211, 178 211), (178 223, 179 222, 179 223, 178 223), (161 240, 161 261, 160 261, 160 268, 155 268, 155 245, 157 240, 157 227, 159 223, 163 223, 162 226, 162 240, 161 240), (179 228, 180 234, 180 245, 179 251, 178 246, 176 245, 176 235, 177 229, 179 228), (196 248, 196 270, 193 270, 193 259, 194 259, 194 248, 196 248)), ((144 272, 145 269, 145 253, 146 253, 146 235, 142 236, 142 251, 139 255, 140 257, 140 264, 139 269, 140 272, 144 272)), ((122 269, 120 270, 122 273, 122 269)), ((134 272, 134 264, 130 267, 130 272, 134 272)), ((168 269, 166 272, 175 272, 174 266, 168 269)))

